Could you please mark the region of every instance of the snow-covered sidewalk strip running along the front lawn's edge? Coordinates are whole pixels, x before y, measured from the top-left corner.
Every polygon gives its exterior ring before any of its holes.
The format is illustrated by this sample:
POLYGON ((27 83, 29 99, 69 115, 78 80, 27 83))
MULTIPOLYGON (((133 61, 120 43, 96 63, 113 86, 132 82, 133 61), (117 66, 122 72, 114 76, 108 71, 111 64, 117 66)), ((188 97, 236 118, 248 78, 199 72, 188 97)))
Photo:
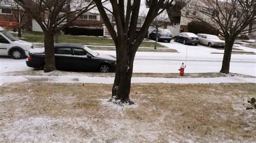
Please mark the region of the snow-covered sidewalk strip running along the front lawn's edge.
MULTIPOLYGON (((11 82, 47 82, 47 83, 104 83, 112 84, 114 77, 89 76, 0 76, 0 85, 11 82)), ((210 78, 161 78, 133 77, 132 83, 256 83, 256 78, 238 76, 210 78)))

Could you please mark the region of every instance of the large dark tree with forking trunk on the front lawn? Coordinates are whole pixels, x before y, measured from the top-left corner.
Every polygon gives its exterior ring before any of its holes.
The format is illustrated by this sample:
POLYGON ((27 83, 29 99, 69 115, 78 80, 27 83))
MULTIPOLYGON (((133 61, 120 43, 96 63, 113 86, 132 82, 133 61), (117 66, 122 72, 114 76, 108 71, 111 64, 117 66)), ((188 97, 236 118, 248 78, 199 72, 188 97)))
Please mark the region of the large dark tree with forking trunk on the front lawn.
MULTIPOLYGON (((123 103, 133 104, 130 101, 131 77, 133 71, 133 61, 140 44, 142 44, 147 31, 154 18, 171 6, 173 0, 147 0, 149 8, 142 28, 140 28, 137 37, 135 32, 137 28, 140 6, 145 4, 141 0, 110 0, 110 7, 103 6, 102 0, 93 0, 102 16, 104 23, 109 31, 114 45, 116 45, 117 67, 114 84, 112 87, 112 101, 123 105, 123 103), (114 17, 116 30, 114 30, 111 20, 108 17, 111 13, 114 17)), ((145 6, 145 5, 144 5, 145 6)))

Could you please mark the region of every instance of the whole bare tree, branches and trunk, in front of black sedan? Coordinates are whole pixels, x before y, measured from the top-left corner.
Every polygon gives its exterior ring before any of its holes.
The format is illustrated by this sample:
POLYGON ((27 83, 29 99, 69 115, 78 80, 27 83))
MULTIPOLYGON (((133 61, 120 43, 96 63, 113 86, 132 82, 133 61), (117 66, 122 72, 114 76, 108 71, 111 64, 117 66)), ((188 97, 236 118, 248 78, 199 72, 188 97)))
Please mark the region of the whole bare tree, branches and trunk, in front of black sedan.
MULTIPOLYGON (((40 25, 44 32, 45 66, 44 72, 56 69, 54 55, 54 35, 72 24, 83 13, 95 7, 93 2, 83 0, 15 0, 40 25)), ((43 65, 42 65, 43 66, 43 65)))

